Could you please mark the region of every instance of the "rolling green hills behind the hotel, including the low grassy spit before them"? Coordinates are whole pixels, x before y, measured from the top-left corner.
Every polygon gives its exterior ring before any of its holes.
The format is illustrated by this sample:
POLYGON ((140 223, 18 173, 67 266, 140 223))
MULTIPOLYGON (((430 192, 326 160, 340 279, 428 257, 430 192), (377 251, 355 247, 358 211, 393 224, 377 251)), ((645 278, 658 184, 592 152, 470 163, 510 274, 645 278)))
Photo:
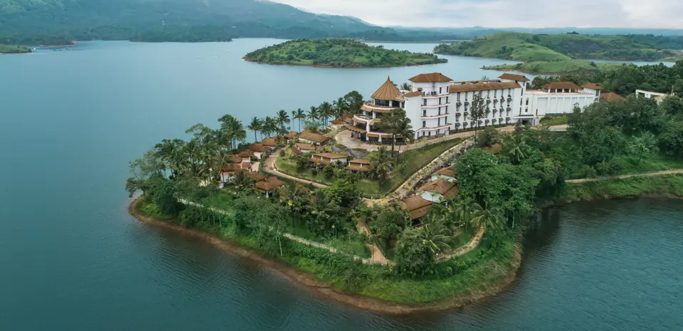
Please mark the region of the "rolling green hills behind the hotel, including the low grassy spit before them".
POLYGON ((652 35, 588 36, 578 33, 529 34, 502 32, 454 44, 440 44, 434 53, 502 58, 524 63, 486 67, 524 73, 594 73, 614 61, 665 61, 683 59, 683 38, 652 35))

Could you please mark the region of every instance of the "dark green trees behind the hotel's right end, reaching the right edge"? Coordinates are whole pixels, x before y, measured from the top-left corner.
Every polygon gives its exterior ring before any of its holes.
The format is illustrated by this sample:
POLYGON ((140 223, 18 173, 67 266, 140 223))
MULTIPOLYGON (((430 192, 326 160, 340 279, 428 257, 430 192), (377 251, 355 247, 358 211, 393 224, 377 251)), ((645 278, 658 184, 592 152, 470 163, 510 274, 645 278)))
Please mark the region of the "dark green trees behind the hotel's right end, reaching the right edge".
POLYGON ((671 67, 662 63, 657 65, 634 65, 625 63, 619 68, 598 70, 590 75, 561 75, 555 77, 536 76, 531 87, 538 89, 551 81, 572 81, 578 85, 598 83, 606 90, 625 96, 635 90, 649 90, 659 93, 683 93, 683 61, 671 67))

